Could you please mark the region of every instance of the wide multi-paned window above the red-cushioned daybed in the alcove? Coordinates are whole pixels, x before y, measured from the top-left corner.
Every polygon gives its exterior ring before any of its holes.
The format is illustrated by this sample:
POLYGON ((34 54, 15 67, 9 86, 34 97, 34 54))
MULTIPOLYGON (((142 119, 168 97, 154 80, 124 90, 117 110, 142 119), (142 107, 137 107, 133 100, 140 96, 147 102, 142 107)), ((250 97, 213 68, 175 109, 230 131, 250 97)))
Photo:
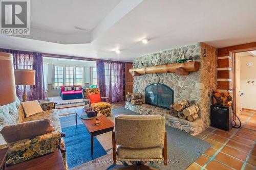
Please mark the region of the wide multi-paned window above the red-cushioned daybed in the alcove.
POLYGON ((54 66, 54 87, 57 88, 62 85, 83 85, 85 69, 83 66, 68 66, 55 65, 54 66))

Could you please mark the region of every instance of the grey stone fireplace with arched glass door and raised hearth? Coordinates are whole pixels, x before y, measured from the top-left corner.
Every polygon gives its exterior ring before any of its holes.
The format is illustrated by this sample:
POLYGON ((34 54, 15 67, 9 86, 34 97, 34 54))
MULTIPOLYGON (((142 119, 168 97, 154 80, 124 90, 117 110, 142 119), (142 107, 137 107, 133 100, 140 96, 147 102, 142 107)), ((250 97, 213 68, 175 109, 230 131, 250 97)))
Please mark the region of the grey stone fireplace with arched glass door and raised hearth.
POLYGON ((144 115, 161 114, 166 118, 166 125, 184 130, 191 135, 202 132, 210 125, 210 96, 211 91, 217 88, 217 50, 215 47, 202 42, 176 47, 134 58, 134 67, 170 64, 190 56, 194 61, 200 62, 200 68, 199 71, 190 72, 187 76, 177 76, 175 73, 135 76, 133 90, 142 93, 145 104, 133 105, 126 102, 125 107, 144 115), (169 98, 172 95, 169 89, 173 91, 173 101, 169 98), (152 92, 148 93, 150 90, 152 92), (164 93, 168 96, 166 103, 163 103, 165 101, 164 93), (169 114, 167 107, 169 108, 172 102, 181 99, 186 99, 190 104, 199 106, 199 118, 194 122, 169 114), (156 103, 159 107, 156 107, 156 103))

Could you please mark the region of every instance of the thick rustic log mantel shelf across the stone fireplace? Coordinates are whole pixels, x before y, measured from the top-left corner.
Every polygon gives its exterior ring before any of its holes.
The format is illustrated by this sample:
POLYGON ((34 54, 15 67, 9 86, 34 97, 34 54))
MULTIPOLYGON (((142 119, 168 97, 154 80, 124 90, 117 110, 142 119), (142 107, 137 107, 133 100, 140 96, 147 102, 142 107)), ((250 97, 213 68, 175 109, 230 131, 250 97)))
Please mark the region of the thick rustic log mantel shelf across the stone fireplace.
POLYGON ((132 76, 140 76, 141 74, 152 74, 152 73, 167 73, 175 72, 176 75, 185 76, 191 71, 199 70, 199 62, 191 61, 185 63, 175 63, 166 65, 157 65, 152 67, 141 67, 141 68, 131 68, 129 72, 132 76))

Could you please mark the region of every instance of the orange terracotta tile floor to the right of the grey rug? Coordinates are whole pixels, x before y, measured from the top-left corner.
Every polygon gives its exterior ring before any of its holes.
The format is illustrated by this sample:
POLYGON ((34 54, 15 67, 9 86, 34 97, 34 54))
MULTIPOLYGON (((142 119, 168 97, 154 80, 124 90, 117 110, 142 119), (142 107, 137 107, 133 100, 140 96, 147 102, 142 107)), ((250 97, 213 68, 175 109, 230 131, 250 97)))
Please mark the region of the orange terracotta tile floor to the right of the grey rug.
POLYGON ((256 169, 256 112, 243 111, 239 117, 242 129, 209 127, 197 135, 213 145, 187 169, 256 169))

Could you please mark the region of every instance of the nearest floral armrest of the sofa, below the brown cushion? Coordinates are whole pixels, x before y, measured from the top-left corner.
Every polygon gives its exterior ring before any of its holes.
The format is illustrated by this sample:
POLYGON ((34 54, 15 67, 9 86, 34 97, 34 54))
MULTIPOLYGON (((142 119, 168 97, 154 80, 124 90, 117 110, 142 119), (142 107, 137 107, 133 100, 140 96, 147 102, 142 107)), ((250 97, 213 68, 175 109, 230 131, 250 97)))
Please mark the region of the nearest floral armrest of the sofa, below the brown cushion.
POLYGON ((6 164, 13 165, 56 151, 60 140, 60 132, 54 131, 31 139, 0 145, 0 149, 9 148, 6 164))

